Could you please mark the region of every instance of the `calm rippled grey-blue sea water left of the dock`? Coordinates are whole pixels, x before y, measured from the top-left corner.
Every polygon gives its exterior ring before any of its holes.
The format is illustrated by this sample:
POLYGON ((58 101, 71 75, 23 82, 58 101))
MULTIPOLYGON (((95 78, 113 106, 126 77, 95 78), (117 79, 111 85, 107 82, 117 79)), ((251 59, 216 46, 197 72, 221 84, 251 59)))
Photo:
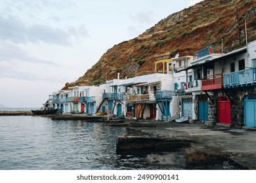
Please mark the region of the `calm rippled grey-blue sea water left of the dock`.
POLYGON ((136 133, 103 123, 0 116, 0 169, 160 168, 148 156, 116 155, 117 137, 136 133))

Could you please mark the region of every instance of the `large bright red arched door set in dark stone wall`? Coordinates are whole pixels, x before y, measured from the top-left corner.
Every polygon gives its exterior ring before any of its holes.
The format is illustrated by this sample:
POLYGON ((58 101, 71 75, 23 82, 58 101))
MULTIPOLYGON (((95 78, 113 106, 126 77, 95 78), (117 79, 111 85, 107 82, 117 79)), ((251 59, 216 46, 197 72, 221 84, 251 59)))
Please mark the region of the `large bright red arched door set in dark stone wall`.
POLYGON ((221 124, 231 124, 230 99, 221 96, 218 99, 218 122, 221 124))

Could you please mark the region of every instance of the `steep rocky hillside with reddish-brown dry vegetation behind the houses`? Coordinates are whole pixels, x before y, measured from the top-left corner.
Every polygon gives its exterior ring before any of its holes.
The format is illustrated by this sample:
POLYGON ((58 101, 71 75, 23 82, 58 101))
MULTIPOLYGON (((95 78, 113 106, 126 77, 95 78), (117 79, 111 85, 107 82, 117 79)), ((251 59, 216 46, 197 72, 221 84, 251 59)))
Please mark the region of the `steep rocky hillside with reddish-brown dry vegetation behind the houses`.
POLYGON ((177 52, 179 56, 192 55, 210 44, 221 48, 222 39, 224 50, 234 50, 245 45, 244 17, 248 41, 253 41, 256 0, 202 1, 171 14, 139 37, 113 46, 85 75, 67 83, 64 89, 102 84, 106 78, 117 78, 117 73, 120 78, 150 74, 154 71, 154 61, 173 58, 177 52))

